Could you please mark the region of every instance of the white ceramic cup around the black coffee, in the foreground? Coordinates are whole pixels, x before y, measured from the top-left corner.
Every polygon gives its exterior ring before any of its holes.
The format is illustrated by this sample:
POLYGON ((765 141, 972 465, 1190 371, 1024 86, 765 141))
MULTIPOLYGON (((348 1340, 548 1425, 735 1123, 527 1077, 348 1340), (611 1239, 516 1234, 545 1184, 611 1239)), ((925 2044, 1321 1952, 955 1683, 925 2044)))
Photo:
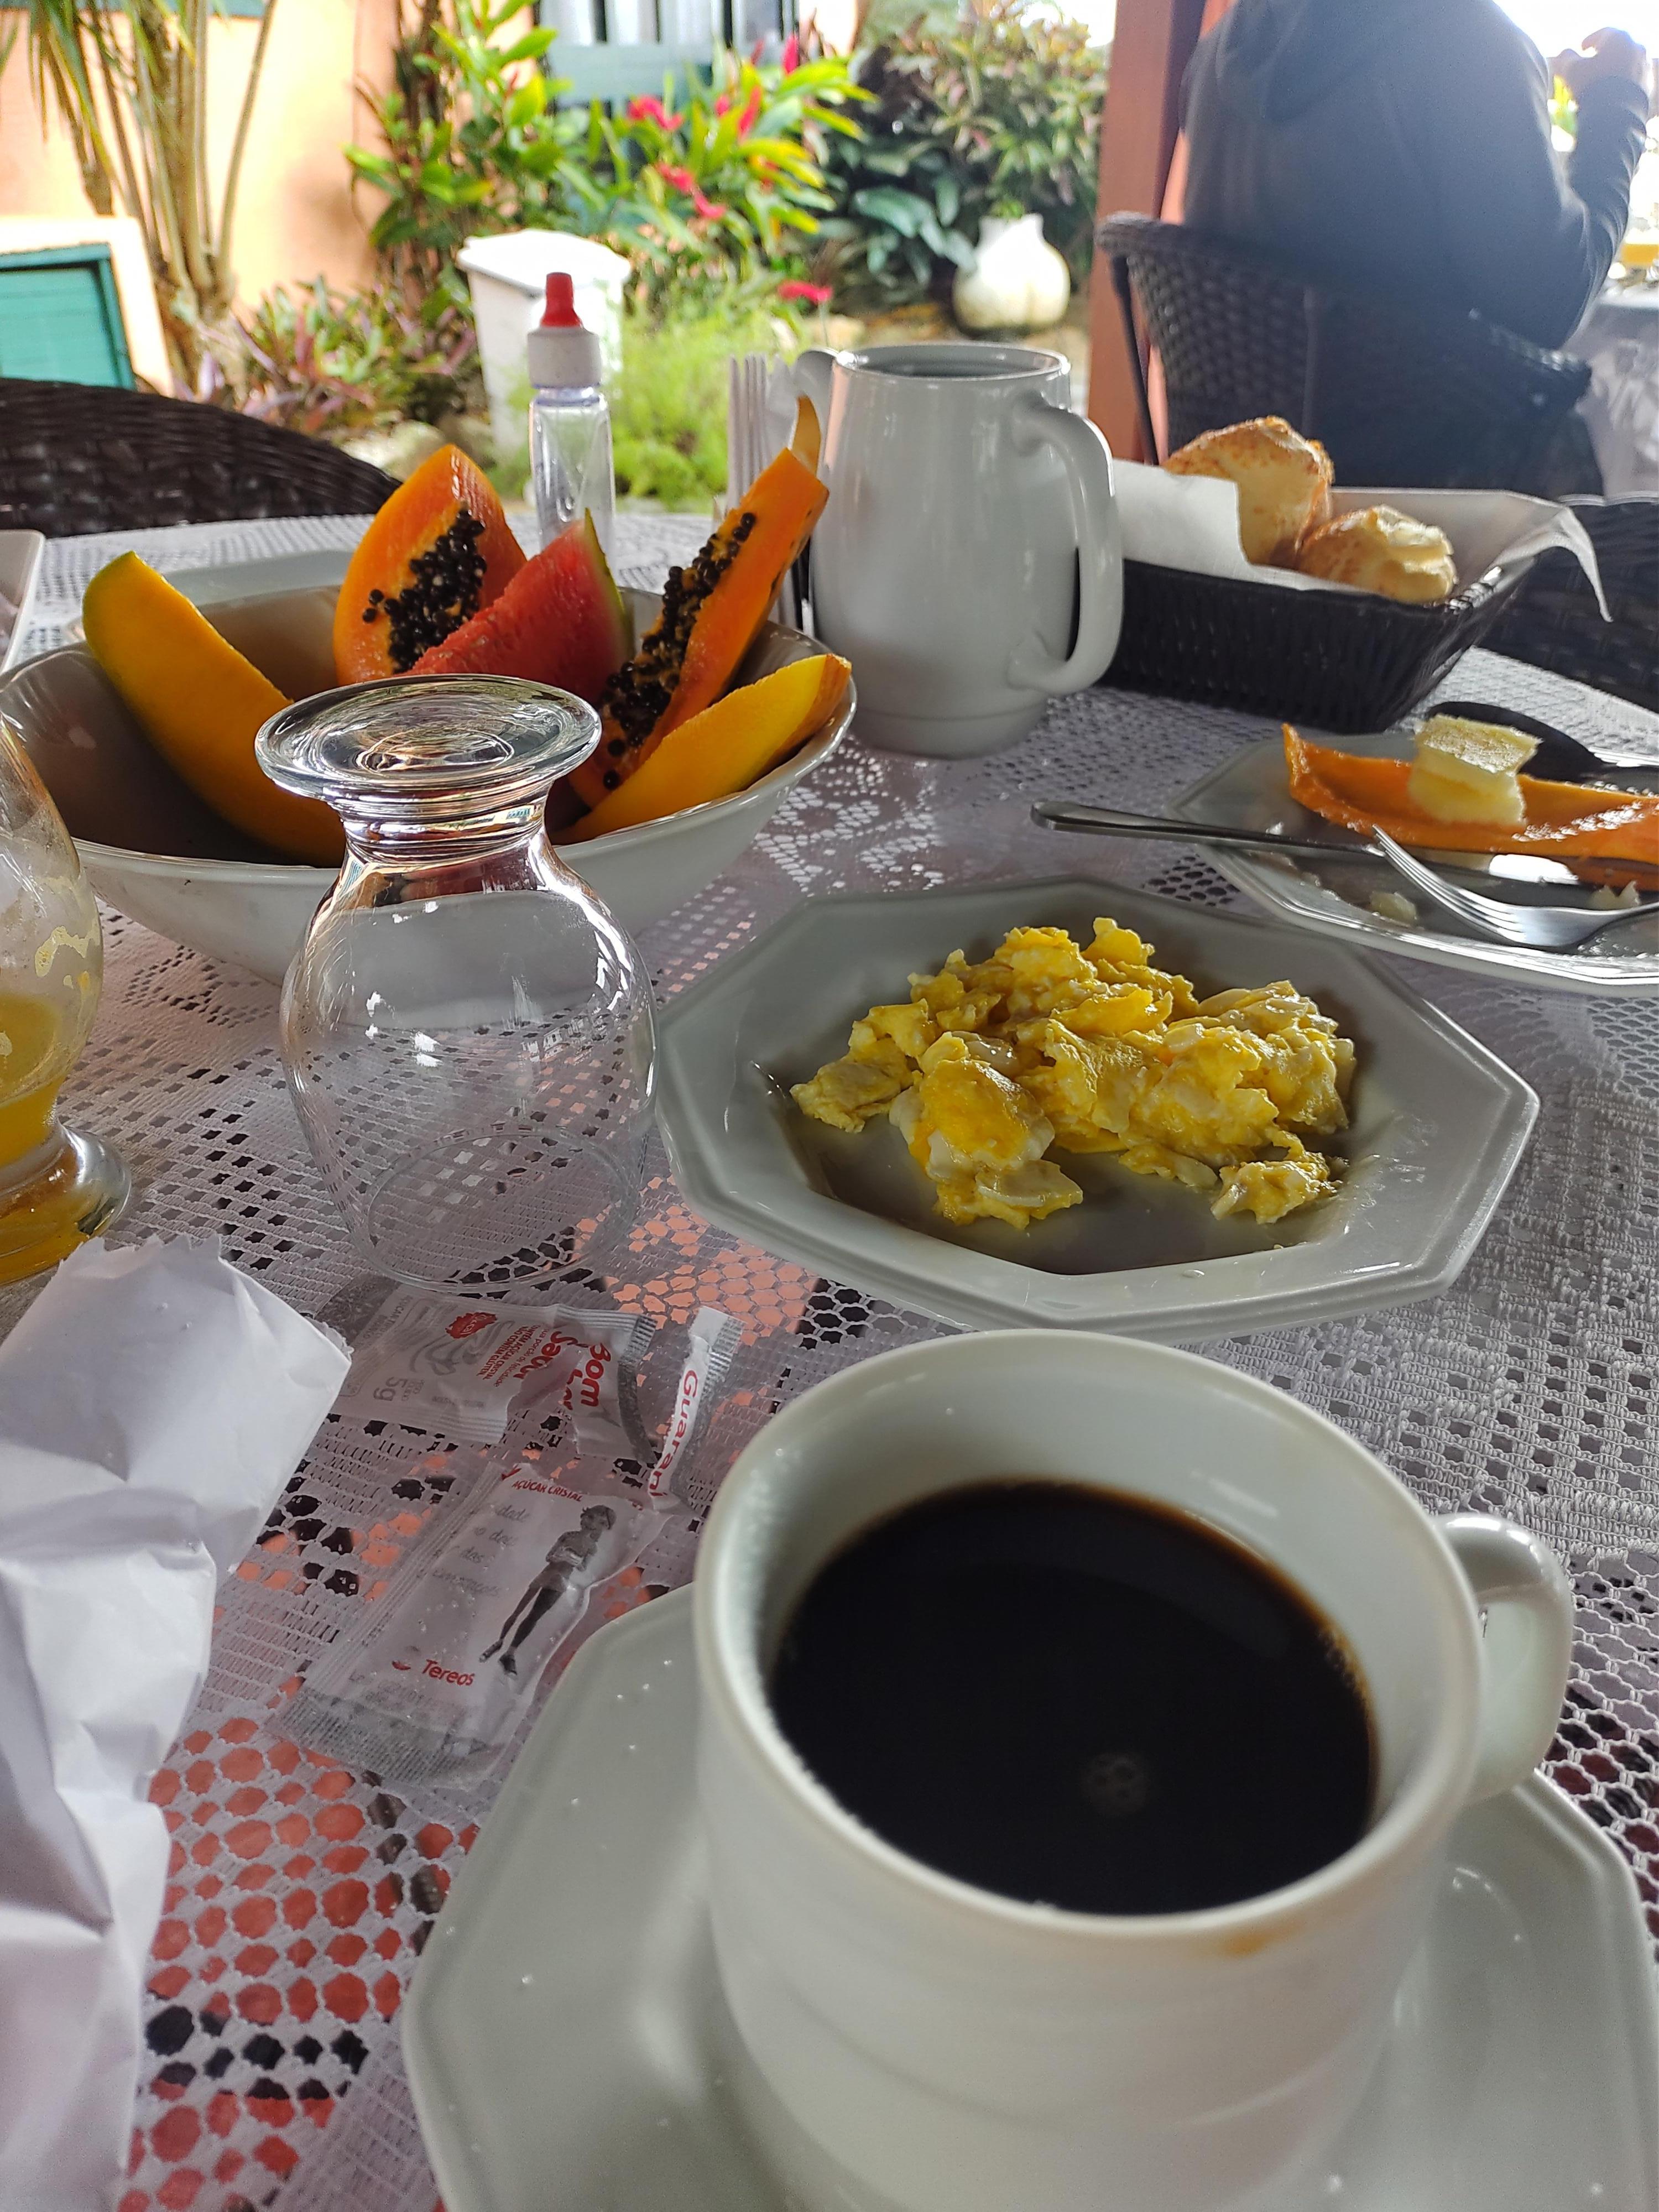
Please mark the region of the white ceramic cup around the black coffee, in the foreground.
POLYGON ((1566 1575, 1526 1531, 1431 1520, 1332 1422, 1212 1360, 1035 1329, 891 1352, 785 1407, 726 1478, 695 1613, 739 2093, 814 2212, 1301 2203, 1365 2088, 1451 1823, 1544 1754, 1571 1648, 1566 1575), (1108 1918, 973 1889, 843 1812, 768 1705, 787 1615, 858 1528, 995 1475, 1194 1513, 1336 1624, 1380 1770, 1349 1851, 1239 1905, 1108 1918))

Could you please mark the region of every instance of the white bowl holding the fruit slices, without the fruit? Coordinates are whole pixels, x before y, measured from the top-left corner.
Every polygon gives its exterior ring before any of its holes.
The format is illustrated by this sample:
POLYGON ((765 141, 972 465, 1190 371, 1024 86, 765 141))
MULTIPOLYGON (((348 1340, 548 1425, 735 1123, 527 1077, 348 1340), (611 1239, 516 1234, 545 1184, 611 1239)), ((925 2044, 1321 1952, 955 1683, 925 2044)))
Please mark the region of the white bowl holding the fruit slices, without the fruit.
MULTIPOLYGON (((201 611, 272 684, 290 697, 334 684, 332 584, 248 597, 221 591, 201 591, 201 611)), ((624 599, 641 635, 659 599, 646 591, 624 591, 624 599)), ((737 681, 752 684, 821 650, 801 630, 770 622, 737 681)), ((847 686, 830 721, 745 792, 562 847, 564 858, 624 929, 644 929, 737 860, 787 792, 841 743, 854 706, 847 686)), ((86 646, 42 653, 0 677, 0 717, 58 801, 100 898, 175 945, 281 980, 332 869, 276 860, 208 812, 142 737, 86 646)))

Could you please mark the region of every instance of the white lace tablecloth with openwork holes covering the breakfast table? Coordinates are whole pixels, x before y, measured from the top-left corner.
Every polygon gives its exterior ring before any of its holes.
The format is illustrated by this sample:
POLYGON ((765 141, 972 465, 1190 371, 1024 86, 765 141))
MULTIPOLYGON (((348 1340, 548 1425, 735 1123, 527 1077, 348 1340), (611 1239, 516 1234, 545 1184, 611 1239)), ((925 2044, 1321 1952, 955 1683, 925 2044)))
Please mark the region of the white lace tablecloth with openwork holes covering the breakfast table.
MULTIPOLYGON (((358 529, 263 522, 53 544, 29 648, 58 641, 86 577, 124 544, 177 571, 345 544, 358 529)), ((701 524, 624 518, 619 535, 624 575, 650 582, 701 524)), ((1455 684, 1590 741, 1635 734, 1659 761, 1659 717, 1575 684, 1486 655, 1455 684)), ((1259 734, 1239 714, 1095 690, 993 761, 907 761, 849 743, 732 874, 648 933, 657 989, 684 989, 805 891, 1064 869, 1228 905, 1230 887, 1192 854, 1057 849, 1026 807, 1035 796, 1159 807, 1259 734)), ((1511 1513, 1571 1559, 1579 1641, 1551 1772, 1630 1854, 1659 1938, 1659 1002, 1533 995, 1411 962, 1402 973, 1544 1102, 1484 1245, 1429 1303, 1203 1349, 1329 1413, 1431 1509, 1511 1513)), ((288 1106, 272 987, 106 916, 104 1006, 69 1108, 133 1166, 122 1239, 217 1232, 230 1259, 305 1312, 352 1279, 288 1106)), ((661 1155, 626 1272, 575 1283, 571 1296, 672 1323, 661 1369, 699 1305, 741 1318, 703 1484, 783 1398, 936 1334, 708 1228, 661 1155)), ((646 1389, 661 1391, 661 1371, 648 1369, 646 1389)), ((434 2208, 396 2015, 487 1803, 409 1803, 296 1745, 283 1708, 301 1663, 385 1582, 442 1493, 440 1440, 330 1420, 221 1593, 208 1686, 155 1783, 173 1882, 122 2212, 434 2208)), ((688 1566, 684 1546, 648 1553, 611 1610, 688 1566)))

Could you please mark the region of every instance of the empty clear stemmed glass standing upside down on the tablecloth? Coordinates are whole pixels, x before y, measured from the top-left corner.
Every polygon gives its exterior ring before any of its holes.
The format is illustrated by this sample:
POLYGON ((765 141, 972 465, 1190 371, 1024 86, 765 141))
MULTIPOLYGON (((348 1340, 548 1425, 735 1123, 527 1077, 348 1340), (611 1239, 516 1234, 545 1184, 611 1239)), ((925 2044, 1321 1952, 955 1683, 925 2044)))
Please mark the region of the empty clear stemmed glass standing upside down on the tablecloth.
POLYGON ((650 987, 542 818, 597 734, 518 677, 358 684, 259 732, 347 843, 283 984, 288 1084, 363 1259, 403 1283, 515 1296, 633 1225, 650 987))

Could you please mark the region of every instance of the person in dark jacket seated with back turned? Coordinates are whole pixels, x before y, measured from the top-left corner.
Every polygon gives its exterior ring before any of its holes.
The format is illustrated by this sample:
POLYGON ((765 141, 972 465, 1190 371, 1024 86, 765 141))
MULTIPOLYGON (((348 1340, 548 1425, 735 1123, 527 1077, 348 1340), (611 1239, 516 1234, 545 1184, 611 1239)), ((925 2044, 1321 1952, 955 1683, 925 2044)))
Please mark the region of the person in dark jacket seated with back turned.
POLYGON ((1186 75, 1186 221, 1307 276, 1478 307, 1562 345, 1606 281, 1648 124, 1648 58, 1597 31, 1555 71, 1498 0, 1237 0, 1186 75))

